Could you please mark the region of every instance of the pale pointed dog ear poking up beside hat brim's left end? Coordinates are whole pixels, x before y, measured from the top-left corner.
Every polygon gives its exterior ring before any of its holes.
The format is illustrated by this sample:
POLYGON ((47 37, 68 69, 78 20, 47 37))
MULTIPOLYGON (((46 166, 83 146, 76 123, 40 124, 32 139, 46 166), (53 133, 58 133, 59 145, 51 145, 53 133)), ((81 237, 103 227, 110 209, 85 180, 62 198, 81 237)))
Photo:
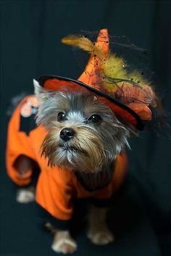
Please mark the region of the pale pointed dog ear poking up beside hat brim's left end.
POLYGON ((42 104, 49 98, 49 91, 40 86, 36 79, 33 79, 33 85, 35 88, 36 98, 38 99, 39 104, 42 104))

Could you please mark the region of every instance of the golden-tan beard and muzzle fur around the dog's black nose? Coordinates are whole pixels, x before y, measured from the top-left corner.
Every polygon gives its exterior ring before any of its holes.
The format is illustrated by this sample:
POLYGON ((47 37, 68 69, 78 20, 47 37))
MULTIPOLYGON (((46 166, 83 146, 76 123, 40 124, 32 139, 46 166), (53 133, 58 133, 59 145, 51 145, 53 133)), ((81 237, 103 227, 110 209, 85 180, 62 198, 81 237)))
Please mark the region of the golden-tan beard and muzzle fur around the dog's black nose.
POLYGON ((76 133, 70 141, 62 141, 57 129, 49 131, 41 146, 42 155, 51 166, 92 173, 101 170, 107 156, 98 133, 85 126, 76 128, 76 133))

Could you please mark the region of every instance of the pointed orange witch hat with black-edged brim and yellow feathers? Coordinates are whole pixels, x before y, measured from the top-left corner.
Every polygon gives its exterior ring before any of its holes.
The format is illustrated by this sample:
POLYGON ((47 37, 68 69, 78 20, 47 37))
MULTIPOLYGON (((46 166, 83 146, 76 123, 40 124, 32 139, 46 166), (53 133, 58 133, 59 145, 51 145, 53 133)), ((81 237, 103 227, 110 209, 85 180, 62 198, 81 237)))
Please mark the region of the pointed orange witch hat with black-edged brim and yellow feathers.
POLYGON ((78 80, 44 75, 38 79, 41 86, 54 91, 88 90, 120 120, 142 130, 152 118, 151 108, 157 106, 156 94, 137 70, 128 73, 124 59, 109 51, 107 29, 100 30, 95 43, 81 35, 67 36, 62 42, 91 54, 86 69, 78 80))

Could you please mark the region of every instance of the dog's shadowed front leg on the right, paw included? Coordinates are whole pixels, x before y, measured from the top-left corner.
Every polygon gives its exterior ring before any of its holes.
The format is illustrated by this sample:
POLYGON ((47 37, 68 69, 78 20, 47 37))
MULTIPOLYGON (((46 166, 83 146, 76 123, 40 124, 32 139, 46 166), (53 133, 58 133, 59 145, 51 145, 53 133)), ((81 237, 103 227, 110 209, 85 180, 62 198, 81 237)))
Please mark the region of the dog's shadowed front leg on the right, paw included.
POLYGON ((91 206, 88 214, 88 238, 93 244, 109 244, 114 235, 106 223, 107 208, 91 206))

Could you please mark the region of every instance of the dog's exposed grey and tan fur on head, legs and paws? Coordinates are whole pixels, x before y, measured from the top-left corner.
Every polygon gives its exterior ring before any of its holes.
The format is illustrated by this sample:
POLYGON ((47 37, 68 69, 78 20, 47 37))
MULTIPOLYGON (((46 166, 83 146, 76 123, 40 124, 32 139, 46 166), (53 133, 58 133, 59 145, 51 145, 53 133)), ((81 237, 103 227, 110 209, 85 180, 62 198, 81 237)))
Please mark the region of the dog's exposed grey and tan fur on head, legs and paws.
MULTIPOLYGON (((36 121, 48 131, 41 146, 41 154, 49 160, 49 165, 96 174, 107 170, 117 154, 120 154, 125 146, 129 146, 130 130, 120 123, 114 112, 96 99, 96 96, 85 91, 47 91, 41 88, 36 80, 34 85, 40 104, 36 121), (62 139, 61 135, 66 128, 72 129, 71 138, 67 140, 62 139)), ((16 162, 21 175, 28 170, 28 165, 30 168, 33 162, 25 156, 16 162)), ((33 197, 27 195, 27 191, 26 189, 24 192, 24 200, 23 189, 19 192, 19 202, 33 200, 33 197)), ((108 244, 114 240, 105 222, 106 214, 106 208, 97 210, 96 207, 91 207, 89 211, 88 238, 94 244, 108 244)), ((70 231, 59 231, 53 227, 51 230, 55 233, 52 244, 54 251, 72 253, 77 249, 70 231)))

